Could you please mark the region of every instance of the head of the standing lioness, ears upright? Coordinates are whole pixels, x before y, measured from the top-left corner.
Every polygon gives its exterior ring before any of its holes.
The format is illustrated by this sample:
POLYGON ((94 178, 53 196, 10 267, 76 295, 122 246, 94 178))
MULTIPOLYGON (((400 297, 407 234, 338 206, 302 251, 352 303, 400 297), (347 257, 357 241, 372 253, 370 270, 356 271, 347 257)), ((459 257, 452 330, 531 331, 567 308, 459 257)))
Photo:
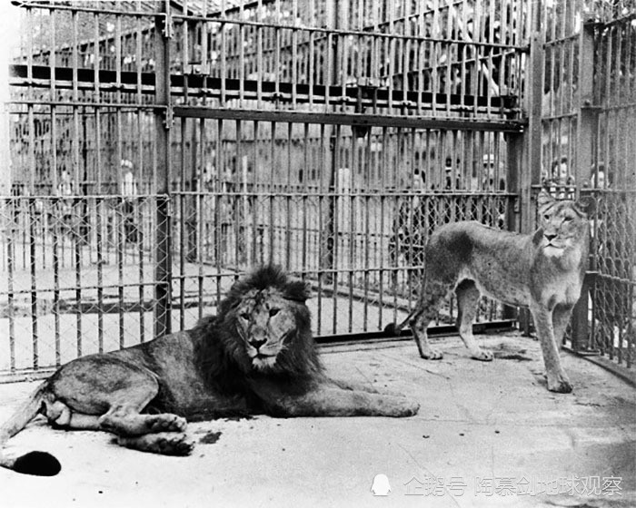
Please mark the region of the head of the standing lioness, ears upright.
POLYGON ((588 241, 588 214, 591 213, 593 200, 555 200, 542 190, 538 203, 543 233, 540 245, 547 254, 559 256, 565 249, 588 241))

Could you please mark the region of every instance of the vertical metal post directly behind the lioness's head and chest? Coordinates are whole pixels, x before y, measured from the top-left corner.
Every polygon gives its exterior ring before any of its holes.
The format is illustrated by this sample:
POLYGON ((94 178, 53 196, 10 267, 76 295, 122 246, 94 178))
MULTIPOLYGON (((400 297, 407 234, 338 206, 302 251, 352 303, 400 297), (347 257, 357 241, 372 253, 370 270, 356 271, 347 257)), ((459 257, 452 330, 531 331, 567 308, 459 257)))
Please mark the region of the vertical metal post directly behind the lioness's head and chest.
MULTIPOLYGON (((588 16, 579 34, 579 104, 577 129, 577 197, 581 182, 589 181, 594 159, 594 139, 598 132, 598 112, 594 107, 594 20, 588 16)), ((590 347, 588 324, 588 295, 593 291, 591 278, 586 276, 581 298, 571 318, 571 347, 574 351, 590 347)))

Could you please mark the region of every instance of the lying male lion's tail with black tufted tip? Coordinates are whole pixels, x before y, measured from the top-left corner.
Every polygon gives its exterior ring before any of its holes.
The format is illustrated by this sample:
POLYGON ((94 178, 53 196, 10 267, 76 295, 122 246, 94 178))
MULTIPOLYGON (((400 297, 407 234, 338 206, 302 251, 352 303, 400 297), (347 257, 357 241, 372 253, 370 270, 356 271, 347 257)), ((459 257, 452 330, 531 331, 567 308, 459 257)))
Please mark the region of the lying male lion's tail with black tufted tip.
POLYGON ((37 474, 38 476, 54 476, 60 472, 62 466, 58 460, 46 452, 29 452, 17 457, 5 455, 6 442, 24 429, 26 424, 40 412, 46 388, 46 382, 38 386, 25 404, 9 418, 5 425, 0 427, 0 466, 13 469, 17 473, 37 474))

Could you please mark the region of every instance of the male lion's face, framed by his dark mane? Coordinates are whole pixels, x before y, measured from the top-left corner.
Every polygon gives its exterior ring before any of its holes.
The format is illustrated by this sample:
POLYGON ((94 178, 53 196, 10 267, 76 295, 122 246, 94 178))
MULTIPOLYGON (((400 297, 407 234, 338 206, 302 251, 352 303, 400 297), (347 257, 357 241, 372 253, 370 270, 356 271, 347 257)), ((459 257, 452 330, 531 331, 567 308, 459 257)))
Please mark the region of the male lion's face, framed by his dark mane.
POLYGON ((245 352, 258 370, 269 369, 293 338, 296 322, 293 304, 274 288, 253 289, 236 308, 236 326, 245 352))

